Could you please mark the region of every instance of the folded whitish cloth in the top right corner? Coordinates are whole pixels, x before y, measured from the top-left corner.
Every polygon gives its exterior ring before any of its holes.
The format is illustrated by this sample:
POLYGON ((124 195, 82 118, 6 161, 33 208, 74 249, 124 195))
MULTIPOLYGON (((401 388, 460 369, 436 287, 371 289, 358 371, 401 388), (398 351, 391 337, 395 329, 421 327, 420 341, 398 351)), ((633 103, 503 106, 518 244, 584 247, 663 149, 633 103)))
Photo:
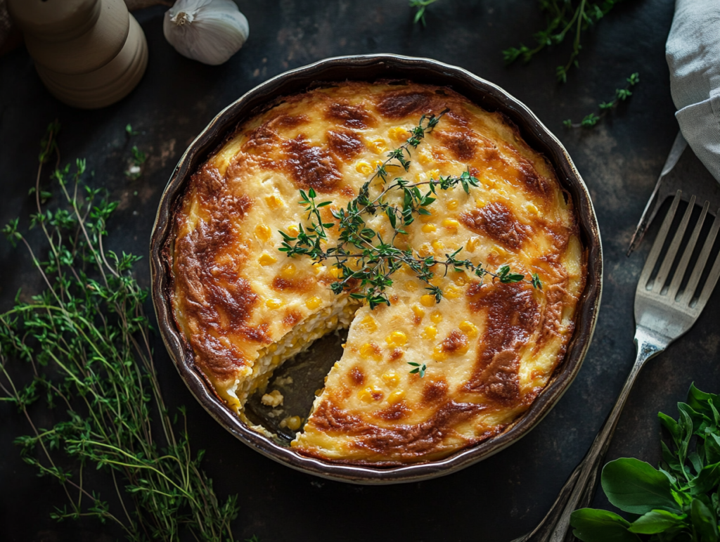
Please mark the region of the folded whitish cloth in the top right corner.
POLYGON ((719 0, 675 0, 665 58, 680 130, 720 181, 719 0))

